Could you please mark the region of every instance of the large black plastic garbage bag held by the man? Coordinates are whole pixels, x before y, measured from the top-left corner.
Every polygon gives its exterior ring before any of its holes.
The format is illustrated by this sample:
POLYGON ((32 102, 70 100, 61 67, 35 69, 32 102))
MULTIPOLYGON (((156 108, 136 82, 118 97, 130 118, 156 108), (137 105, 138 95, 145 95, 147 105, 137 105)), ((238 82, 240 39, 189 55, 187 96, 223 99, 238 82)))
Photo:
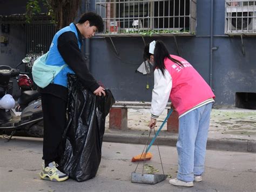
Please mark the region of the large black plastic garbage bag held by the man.
POLYGON ((110 90, 95 96, 75 75, 68 78, 68 126, 63 134, 64 153, 59 168, 76 181, 95 177, 102 157, 105 117, 113 105, 110 90))

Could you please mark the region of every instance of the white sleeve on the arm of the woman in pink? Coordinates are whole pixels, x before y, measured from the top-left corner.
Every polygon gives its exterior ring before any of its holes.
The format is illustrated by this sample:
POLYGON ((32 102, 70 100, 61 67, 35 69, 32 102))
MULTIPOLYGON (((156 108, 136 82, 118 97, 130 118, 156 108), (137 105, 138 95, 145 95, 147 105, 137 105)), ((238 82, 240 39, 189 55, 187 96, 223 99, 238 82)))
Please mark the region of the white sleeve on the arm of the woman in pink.
POLYGON ((165 75, 160 69, 154 70, 154 89, 152 91, 151 117, 157 119, 163 113, 172 90, 172 77, 165 69, 165 75))

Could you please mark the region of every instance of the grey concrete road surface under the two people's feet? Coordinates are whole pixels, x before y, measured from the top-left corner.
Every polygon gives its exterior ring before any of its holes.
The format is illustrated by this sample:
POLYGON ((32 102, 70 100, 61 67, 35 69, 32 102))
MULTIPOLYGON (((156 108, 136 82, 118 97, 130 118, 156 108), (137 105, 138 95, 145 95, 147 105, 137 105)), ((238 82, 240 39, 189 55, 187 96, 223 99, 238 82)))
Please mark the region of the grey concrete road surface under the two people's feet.
MULTIPOLYGON (((42 139, 15 137, 9 143, 0 138, 0 191, 255 191, 256 154, 207 150, 203 182, 192 188, 175 187, 168 180, 155 185, 131 183, 136 163, 130 160, 143 145, 103 143, 102 161, 97 176, 89 181, 72 179, 62 183, 39 179, 42 139)), ((159 146, 166 174, 176 177, 175 147, 159 146)), ((160 169, 157 146, 148 163, 160 169)), ((139 164, 139 170, 142 163, 139 164)), ((139 171, 138 170, 138 171, 139 171)), ((159 172, 161 173, 161 172, 159 172)))

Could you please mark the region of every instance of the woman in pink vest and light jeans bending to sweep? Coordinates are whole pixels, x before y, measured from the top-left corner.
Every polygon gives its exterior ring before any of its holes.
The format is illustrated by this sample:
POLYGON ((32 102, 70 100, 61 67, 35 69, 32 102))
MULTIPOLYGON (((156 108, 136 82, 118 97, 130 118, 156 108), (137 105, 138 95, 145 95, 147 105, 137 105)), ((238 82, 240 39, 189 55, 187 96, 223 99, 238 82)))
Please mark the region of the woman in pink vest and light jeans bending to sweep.
POLYGON ((179 114, 178 174, 169 182, 192 187, 202 181, 210 114, 215 97, 203 77, 185 59, 170 55, 164 43, 152 41, 144 49, 144 59, 154 63, 152 129, 171 99, 179 114))

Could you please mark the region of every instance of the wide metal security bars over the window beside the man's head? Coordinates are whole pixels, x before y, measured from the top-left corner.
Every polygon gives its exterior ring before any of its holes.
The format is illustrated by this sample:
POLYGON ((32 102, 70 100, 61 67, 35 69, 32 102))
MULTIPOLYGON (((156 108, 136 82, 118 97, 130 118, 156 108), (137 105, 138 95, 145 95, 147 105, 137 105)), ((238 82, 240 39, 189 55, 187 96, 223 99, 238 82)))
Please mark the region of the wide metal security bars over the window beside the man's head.
POLYGON ((196 0, 96 0, 102 36, 196 34, 196 0))

